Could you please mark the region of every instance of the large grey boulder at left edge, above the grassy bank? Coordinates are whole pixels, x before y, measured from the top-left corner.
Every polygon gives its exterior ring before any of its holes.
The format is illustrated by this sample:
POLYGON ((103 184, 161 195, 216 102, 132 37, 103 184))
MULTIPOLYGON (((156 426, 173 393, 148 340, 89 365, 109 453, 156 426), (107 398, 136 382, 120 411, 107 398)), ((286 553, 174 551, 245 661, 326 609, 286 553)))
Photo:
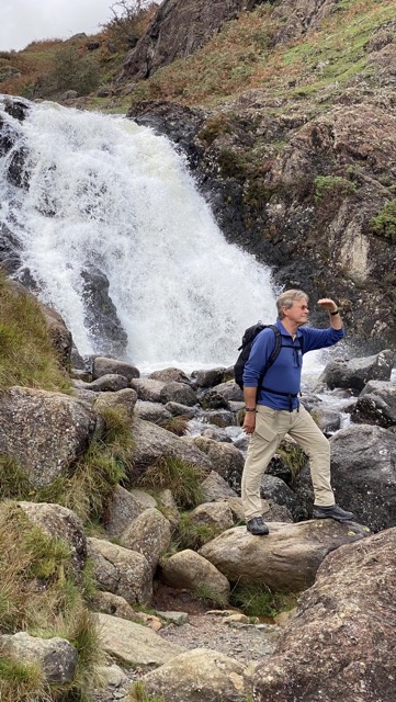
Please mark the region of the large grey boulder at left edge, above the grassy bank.
POLYGON ((34 487, 49 485, 81 456, 97 415, 89 405, 47 390, 0 392, 0 453, 14 458, 34 487))

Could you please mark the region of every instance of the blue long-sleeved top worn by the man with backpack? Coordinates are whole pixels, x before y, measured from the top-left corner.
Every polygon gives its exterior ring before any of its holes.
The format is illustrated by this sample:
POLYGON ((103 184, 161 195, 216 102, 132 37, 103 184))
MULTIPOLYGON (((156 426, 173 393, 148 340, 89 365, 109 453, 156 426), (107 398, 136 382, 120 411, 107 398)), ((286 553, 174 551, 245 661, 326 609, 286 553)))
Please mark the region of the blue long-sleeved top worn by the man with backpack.
MULTIPOLYGON (((328 329, 299 327, 293 341, 293 337, 286 331, 282 321, 276 319, 275 324, 281 332, 281 351, 264 375, 262 389, 258 390, 257 404, 265 405, 272 409, 297 409, 303 354, 307 351, 335 346, 346 336, 346 332, 343 329, 332 329, 331 327, 328 329), (284 395, 278 395, 271 390, 284 393, 284 395)), ((249 360, 245 366, 244 386, 258 386, 260 374, 274 348, 275 335, 273 330, 263 329, 260 331, 252 343, 249 360)))

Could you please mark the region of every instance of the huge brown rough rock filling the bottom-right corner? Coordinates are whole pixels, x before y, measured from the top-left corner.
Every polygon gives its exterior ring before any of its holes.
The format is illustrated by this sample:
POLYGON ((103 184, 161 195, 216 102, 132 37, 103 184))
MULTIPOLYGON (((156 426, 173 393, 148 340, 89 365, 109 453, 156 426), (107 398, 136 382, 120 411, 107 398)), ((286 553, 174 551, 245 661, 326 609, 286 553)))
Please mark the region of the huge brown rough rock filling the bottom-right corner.
POLYGON ((389 529, 327 556, 256 671, 254 701, 394 702, 395 546, 389 529))

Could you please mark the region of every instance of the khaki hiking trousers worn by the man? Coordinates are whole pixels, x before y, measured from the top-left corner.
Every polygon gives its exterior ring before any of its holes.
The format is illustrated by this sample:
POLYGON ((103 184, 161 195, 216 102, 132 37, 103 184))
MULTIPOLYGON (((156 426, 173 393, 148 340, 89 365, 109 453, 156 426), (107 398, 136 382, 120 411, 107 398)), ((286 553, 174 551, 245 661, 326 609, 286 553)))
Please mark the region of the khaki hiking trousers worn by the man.
POLYGON ((301 405, 292 412, 257 405, 256 429, 250 437, 241 483, 246 521, 261 517, 260 483, 285 434, 290 434, 309 456, 315 505, 335 503, 330 485, 330 444, 309 412, 301 405))

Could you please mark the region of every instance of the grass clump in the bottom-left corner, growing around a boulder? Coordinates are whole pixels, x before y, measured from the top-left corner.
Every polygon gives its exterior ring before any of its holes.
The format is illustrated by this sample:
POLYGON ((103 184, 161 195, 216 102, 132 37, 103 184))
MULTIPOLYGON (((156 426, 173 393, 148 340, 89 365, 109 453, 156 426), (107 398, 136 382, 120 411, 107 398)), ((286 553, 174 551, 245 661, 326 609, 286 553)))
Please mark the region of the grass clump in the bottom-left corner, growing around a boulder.
POLYGON ((84 602, 84 577, 69 567, 70 547, 32 524, 22 509, 0 510, 0 631, 69 641, 78 652, 72 683, 44 683, 39 666, 12 663, 0 654, 0 699, 5 702, 87 700, 103 663, 95 620, 84 602))

